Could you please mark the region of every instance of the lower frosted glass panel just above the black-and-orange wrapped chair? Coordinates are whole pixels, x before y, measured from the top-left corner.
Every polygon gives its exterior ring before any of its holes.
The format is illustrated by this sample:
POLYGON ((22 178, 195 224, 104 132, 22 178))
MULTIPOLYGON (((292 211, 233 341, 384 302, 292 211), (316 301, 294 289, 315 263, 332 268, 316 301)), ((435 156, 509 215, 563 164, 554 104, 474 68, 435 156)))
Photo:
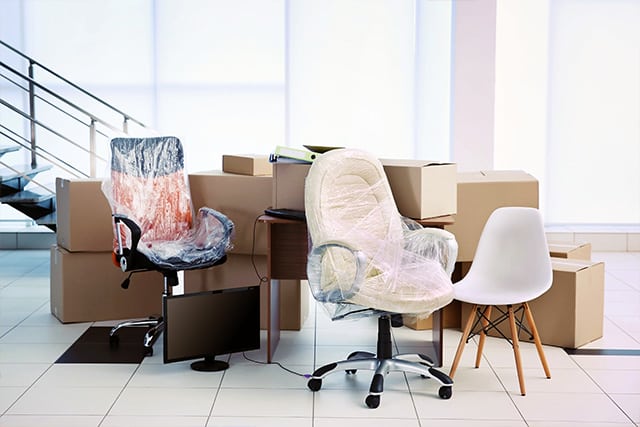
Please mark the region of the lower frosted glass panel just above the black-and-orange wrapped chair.
POLYGON ((284 144, 281 86, 167 87, 158 105, 159 130, 180 137, 189 172, 221 169, 223 154, 269 154, 284 144))

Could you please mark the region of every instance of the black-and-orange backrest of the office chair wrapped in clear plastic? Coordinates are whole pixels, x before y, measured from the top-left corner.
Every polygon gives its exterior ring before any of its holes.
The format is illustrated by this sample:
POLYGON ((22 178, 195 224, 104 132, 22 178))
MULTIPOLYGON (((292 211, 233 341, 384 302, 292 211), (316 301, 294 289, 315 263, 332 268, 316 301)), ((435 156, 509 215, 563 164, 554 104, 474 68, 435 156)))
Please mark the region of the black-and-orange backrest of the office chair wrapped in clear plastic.
POLYGON ((176 137, 114 138, 103 190, 113 213, 138 224, 141 243, 178 240, 191 229, 193 207, 176 137))

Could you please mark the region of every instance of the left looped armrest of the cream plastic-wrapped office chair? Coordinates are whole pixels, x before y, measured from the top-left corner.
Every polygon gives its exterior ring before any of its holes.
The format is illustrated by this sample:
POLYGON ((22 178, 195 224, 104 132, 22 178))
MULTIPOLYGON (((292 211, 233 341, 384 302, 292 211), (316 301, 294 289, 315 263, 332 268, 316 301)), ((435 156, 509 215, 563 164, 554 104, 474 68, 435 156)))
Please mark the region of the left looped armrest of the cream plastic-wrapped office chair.
POLYGON ((345 243, 332 241, 314 246, 307 262, 313 297, 323 303, 349 300, 364 281, 366 264, 367 256, 345 243))

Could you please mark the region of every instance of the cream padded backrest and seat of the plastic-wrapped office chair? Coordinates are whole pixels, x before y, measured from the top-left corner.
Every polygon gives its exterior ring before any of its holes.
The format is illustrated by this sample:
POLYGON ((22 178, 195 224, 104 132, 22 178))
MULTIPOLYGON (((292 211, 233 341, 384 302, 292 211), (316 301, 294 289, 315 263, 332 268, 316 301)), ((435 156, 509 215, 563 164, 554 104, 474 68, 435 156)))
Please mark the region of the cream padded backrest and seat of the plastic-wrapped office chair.
POLYGON ((309 285, 319 301, 426 313, 453 298, 441 261, 407 248, 403 217, 373 155, 335 149, 318 156, 306 178, 305 211, 309 285))

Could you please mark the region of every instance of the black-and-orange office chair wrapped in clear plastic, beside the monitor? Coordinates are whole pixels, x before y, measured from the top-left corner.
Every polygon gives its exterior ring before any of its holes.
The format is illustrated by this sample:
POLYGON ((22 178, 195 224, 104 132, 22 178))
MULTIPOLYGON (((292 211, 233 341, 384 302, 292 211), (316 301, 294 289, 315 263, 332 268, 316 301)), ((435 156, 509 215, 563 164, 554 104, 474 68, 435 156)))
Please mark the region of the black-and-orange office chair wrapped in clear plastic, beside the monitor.
MULTIPOLYGON (((131 274, 155 270, 164 278, 163 297, 178 285, 178 271, 208 268, 226 261, 233 223, 211 208, 193 215, 184 171, 182 144, 175 137, 114 138, 111 176, 102 190, 111 205, 114 227, 113 260, 131 274)), ((164 329, 163 316, 122 322, 111 329, 148 326, 147 355, 164 329)))

